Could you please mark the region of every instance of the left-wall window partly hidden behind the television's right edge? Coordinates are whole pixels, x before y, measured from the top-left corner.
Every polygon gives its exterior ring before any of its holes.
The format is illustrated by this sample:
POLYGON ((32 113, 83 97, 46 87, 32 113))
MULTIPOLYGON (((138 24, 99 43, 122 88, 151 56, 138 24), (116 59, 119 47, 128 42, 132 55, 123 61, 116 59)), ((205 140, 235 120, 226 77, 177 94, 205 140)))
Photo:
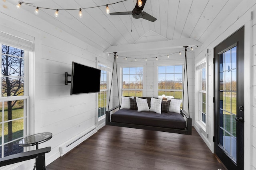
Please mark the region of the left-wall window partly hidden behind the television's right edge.
POLYGON ((108 71, 106 66, 99 64, 99 68, 102 69, 100 73, 100 92, 98 92, 98 117, 102 117, 106 114, 108 106, 108 71))

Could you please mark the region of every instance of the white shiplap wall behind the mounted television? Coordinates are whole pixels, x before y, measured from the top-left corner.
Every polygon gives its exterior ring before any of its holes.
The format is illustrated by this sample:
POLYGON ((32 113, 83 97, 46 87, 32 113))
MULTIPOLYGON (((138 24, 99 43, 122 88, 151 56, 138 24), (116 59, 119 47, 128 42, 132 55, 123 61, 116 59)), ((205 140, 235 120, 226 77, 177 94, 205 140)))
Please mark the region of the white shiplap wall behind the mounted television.
MULTIPOLYGON (((22 9, 16 10, 6 1, 0 2, 0 11, 0 31, 14 36, 24 35, 23 38, 26 35, 34 37, 34 53, 30 56, 30 85, 33 87, 30 91, 28 135, 52 132, 52 139, 39 146, 52 147, 46 154, 46 164, 49 164, 60 156, 60 146, 98 123, 97 93, 70 96, 70 84, 64 82, 65 72, 71 74, 72 61, 92 67, 96 67, 96 57, 110 67, 112 61, 106 54, 61 28, 22 9)), ((86 74, 90 73, 84 73, 83 81, 86 74)), ((15 169, 31 168, 31 163, 34 164, 33 161, 24 162, 15 169)))

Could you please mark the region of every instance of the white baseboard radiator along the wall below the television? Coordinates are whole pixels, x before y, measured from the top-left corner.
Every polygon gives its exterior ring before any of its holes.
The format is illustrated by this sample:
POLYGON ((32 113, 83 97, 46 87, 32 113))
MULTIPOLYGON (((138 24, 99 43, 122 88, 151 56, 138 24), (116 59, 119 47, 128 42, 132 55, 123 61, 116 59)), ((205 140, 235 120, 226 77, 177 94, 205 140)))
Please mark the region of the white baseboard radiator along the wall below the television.
POLYGON ((84 131, 72 139, 70 139, 68 142, 66 142, 64 145, 60 147, 60 156, 63 156, 67 152, 69 152, 71 149, 74 149, 77 145, 88 139, 90 136, 92 136, 94 133, 97 132, 96 126, 93 128, 88 129, 87 131, 84 131))

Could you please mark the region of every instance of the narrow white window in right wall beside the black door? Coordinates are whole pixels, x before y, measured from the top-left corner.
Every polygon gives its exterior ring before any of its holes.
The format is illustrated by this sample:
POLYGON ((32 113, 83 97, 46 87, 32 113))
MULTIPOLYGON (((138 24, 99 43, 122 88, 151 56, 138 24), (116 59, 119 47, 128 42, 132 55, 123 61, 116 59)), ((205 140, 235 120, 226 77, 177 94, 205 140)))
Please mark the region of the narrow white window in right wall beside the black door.
POLYGON ((200 121, 206 123, 206 74, 205 67, 200 69, 200 90, 199 90, 199 115, 200 121))

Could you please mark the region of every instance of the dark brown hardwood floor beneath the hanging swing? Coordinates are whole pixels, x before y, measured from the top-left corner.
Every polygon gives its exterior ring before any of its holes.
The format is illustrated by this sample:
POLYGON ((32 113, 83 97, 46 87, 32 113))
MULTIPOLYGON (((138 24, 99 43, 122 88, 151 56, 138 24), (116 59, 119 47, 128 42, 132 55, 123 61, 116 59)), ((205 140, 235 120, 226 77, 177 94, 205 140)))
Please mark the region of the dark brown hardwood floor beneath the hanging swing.
POLYGON ((47 170, 218 170, 225 168, 194 128, 192 135, 104 126, 47 170))

